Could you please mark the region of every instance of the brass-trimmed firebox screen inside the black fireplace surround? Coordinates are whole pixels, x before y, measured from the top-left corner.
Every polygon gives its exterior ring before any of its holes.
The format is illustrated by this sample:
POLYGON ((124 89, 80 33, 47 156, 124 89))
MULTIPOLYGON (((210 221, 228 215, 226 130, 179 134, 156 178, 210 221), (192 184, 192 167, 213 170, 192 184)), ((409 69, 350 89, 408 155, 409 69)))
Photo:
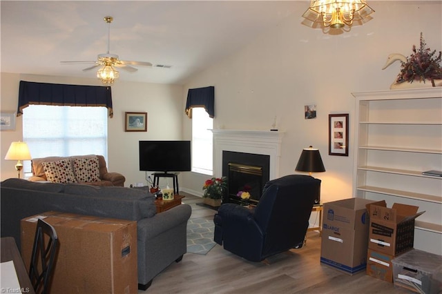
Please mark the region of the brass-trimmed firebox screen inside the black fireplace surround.
POLYGON ((239 202, 239 191, 250 193, 250 202, 257 203, 262 193, 262 166, 229 163, 229 199, 239 202))

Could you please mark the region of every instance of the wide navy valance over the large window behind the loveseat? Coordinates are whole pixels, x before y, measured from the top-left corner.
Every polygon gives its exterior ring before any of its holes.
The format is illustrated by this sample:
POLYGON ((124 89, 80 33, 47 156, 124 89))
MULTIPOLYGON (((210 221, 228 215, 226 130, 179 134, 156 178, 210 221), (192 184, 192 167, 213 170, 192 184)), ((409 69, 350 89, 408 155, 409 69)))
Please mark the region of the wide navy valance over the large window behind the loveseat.
POLYGON ((59 106, 104 106, 113 117, 110 86, 81 86, 20 81, 17 117, 31 104, 59 106))

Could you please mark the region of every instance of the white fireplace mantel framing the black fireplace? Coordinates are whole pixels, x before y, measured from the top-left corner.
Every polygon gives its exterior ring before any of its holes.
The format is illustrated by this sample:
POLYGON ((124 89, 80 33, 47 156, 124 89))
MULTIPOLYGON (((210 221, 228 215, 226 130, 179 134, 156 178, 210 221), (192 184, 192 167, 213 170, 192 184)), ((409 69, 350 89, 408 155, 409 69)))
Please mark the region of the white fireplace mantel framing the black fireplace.
POLYGON ((270 156, 269 179, 279 177, 281 143, 284 132, 271 130, 211 130, 213 133, 213 171, 222 176, 222 151, 270 156))

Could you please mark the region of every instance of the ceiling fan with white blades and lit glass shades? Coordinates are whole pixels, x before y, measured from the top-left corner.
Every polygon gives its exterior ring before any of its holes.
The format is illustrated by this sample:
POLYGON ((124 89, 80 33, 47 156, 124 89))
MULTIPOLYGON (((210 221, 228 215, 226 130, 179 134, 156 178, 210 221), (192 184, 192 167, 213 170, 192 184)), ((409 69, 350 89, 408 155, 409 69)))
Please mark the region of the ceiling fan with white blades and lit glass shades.
POLYGON ((111 23, 113 21, 113 17, 104 17, 104 21, 108 23, 108 51, 103 54, 97 55, 97 61, 60 61, 64 64, 78 64, 78 63, 94 63, 93 66, 88 68, 84 68, 86 70, 93 70, 94 68, 102 66, 103 68, 97 72, 97 77, 102 79, 104 84, 113 84, 113 79, 117 79, 119 77, 119 72, 115 70, 113 67, 122 68, 128 72, 136 72, 137 68, 133 66, 148 66, 151 67, 152 63, 146 61, 125 61, 120 60, 118 55, 111 54, 109 52, 110 43, 111 43, 111 23), (110 73, 110 75, 109 75, 110 73), (106 75, 106 76, 105 76, 106 75), (105 81, 106 79, 111 79, 109 81, 105 81))

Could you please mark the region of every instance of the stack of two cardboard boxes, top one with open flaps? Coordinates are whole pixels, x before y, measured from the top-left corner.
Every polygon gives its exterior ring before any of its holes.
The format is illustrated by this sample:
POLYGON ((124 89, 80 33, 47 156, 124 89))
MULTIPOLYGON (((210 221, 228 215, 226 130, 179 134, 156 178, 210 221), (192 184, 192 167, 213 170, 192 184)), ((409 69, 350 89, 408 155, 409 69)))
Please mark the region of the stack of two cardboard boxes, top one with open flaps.
POLYGON ((369 235, 367 275, 393 282, 392 259, 410 251, 414 243, 414 219, 419 207, 393 204, 387 208, 385 201, 367 205, 369 235))

